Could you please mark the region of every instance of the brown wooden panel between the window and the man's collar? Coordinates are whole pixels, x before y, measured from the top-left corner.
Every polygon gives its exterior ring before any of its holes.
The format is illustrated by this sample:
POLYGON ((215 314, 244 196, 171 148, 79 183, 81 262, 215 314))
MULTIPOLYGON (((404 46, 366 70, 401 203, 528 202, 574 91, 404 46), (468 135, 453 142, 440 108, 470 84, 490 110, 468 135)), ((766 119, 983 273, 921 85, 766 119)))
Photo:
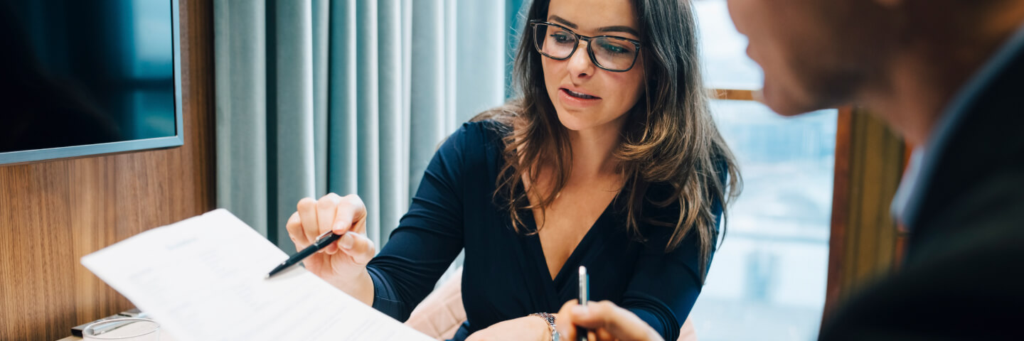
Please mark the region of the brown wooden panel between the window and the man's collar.
POLYGON ((889 273, 900 244, 890 204, 903 173, 903 141, 858 109, 840 110, 824 319, 865 283, 889 273))

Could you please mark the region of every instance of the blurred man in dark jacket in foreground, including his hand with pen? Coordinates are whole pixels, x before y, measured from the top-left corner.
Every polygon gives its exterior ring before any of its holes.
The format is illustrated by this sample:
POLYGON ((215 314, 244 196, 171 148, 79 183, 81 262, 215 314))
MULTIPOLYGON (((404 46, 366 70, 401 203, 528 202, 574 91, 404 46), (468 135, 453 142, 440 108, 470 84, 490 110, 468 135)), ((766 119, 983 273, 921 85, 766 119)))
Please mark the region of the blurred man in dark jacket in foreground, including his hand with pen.
MULTIPOLYGON (((764 101, 793 116, 853 103, 914 146, 893 200, 899 273, 820 340, 1024 339, 1024 1, 729 0, 764 101)), ((599 339, 654 334, 609 303, 559 311, 599 339)), ((656 339, 656 338, 655 338, 656 339)))

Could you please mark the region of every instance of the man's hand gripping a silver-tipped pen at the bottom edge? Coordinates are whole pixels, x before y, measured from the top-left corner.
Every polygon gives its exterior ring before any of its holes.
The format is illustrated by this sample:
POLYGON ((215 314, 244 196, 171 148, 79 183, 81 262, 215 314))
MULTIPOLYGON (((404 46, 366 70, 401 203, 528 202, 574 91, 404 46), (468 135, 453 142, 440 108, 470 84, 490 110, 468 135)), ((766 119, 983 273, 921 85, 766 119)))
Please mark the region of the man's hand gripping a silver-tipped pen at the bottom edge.
POLYGON ((589 302, 580 306, 575 300, 558 310, 558 334, 562 340, 575 340, 575 327, 590 330, 591 341, 655 341, 662 336, 643 319, 608 301, 589 302))

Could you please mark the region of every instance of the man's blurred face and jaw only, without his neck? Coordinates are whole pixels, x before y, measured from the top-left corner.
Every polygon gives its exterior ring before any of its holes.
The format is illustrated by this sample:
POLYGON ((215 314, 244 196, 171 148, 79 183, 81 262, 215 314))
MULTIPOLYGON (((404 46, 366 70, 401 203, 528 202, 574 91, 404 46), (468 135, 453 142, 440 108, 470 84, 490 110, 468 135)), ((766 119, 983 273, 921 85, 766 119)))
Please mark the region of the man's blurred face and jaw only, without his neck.
POLYGON ((797 115, 856 99, 898 47, 898 0, 728 0, 766 103, 797 115))

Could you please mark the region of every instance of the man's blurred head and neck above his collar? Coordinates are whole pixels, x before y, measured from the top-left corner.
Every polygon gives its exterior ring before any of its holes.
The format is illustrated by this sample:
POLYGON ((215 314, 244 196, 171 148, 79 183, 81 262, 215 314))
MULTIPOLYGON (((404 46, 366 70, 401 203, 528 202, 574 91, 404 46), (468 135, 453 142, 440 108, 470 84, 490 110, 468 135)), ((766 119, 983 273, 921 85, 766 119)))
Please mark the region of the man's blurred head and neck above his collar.
POLYGON ((790 116, 884 102, 889 113, 880 114, 904 134, 920 130, 906 122, 929 120, 894 112, 914 100, 941 110, 1024 20, 1020 0, 728 1, 765 71, 771 109, 790 116))

